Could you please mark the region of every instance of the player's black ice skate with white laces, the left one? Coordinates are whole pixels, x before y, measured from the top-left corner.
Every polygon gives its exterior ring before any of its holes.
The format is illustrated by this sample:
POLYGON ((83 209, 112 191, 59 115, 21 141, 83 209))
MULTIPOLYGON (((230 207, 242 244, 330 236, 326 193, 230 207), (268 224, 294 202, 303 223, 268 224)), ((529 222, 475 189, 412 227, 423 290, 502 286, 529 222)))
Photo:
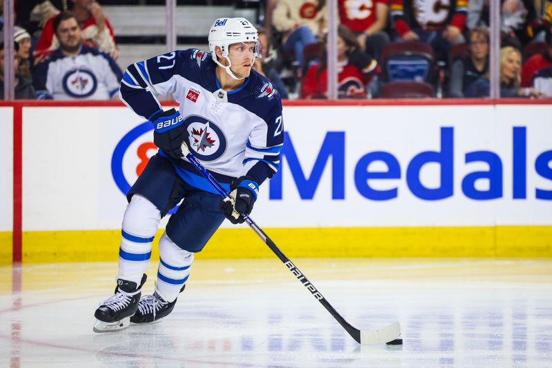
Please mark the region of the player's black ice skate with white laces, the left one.
POLYGON ((95 332, 111 332, 125 329, 130 325, 130 316, 136 313, 141 296, 141 288, 146 283, 146 274, 139 286, 132 281, 117 280, 115 295, 103 300, 94 316, 95 332))

